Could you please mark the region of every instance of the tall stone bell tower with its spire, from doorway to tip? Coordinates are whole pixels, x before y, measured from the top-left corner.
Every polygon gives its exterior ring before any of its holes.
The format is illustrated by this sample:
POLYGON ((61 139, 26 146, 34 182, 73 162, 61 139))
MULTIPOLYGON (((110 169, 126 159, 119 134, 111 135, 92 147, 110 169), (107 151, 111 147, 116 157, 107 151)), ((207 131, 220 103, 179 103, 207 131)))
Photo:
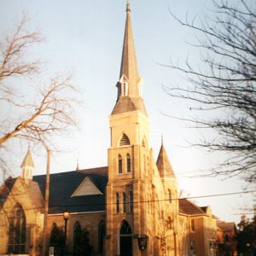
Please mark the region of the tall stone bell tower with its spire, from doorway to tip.
POLYGON ((125 37, 117 87, 117 101, 109 117, 107 236, 108 255, 150 255, 138 241, 152 230, 149 201, 152 189, 152 152, 149 120, 142 96, 142 79, 126 4, 125 37), (147 221, 148 220, 148 221, 147 221), (146 254, 145 254, 146 253, 146 254))

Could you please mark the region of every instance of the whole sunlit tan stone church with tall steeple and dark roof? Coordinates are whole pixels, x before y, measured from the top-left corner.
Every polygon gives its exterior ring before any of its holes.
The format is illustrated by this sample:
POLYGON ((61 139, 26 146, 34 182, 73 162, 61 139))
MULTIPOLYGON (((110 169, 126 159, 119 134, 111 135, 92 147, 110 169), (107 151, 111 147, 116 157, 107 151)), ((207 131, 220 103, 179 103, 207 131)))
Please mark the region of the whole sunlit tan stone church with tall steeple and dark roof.
POLYGON ((0 187, 0 255, 42 255, 45 229, 47 255, 216 255, 211 208, 178 200, 163 142, 154 160, 142 86, 127 3, 108 166, 50 174, 45 227, 46 176, 33 175, 28 150, 20 177, 0 187))

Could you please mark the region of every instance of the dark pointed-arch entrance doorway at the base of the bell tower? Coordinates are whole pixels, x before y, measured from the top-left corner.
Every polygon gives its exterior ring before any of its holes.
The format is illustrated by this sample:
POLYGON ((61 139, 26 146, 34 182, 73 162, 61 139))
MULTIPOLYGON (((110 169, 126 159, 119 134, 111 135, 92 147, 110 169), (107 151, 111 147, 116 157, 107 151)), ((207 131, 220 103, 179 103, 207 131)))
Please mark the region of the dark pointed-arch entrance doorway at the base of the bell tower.
POLYGON ((123 220, 120 229, 120 256, 132 256, 132 234, 131 226, 123 220))

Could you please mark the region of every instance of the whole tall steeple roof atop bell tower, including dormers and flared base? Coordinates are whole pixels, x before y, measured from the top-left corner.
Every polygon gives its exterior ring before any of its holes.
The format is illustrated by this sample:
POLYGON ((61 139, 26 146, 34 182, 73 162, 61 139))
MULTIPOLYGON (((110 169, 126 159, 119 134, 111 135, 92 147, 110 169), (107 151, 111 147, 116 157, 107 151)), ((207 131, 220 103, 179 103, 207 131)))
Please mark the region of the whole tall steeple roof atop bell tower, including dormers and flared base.
POLYGON ((126 3, 125 37, 119 74, 118 98, 112 114, 140 110, 147 115, 142 98, 142 79, 137 70, 137 58, 131 30, 130 3, 126 3))

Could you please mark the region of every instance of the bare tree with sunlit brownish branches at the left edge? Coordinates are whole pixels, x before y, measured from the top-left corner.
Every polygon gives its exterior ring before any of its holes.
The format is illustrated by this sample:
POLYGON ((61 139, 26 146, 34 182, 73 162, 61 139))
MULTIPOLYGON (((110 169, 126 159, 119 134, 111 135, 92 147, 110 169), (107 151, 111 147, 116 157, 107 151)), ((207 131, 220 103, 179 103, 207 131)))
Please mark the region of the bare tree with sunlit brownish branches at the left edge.
MULTIPOLYGON (((15 139, 51 147, 53 136, 76 125, 73 107, 78 101, 72 74, 39 80, 42 63, 31 61, 28 50, 43 38, 38 31, 26 31, 27 21, 23 15, 15 32, 0 43, 0 149, 5 152, 15 139), (16 85, 20 79, 25 89, 16 85)), ((0 168, 3 172, 8 168, 3 154, 0 168)))

